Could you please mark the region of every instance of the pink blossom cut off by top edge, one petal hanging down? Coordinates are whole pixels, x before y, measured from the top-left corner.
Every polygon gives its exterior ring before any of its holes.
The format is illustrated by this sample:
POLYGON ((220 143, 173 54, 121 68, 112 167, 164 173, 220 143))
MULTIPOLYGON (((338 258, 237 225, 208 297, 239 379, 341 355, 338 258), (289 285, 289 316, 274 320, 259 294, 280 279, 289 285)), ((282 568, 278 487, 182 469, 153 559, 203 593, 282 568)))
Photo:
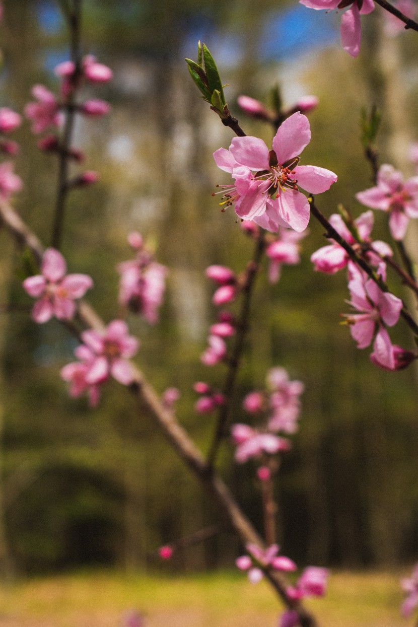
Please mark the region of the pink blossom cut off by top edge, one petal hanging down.
POLYGON ((354 0, 353 3, 341 2, 340 0, 299 0, 309 9, 332 9, 345 8, 351 4, 350 8, 341 16, 341 43, 344 50, 351 56, 357 56, 360 51, 360 41, 362 38, 362 25, 360 15, 371 13, 374 9, 373 0, 354 0))

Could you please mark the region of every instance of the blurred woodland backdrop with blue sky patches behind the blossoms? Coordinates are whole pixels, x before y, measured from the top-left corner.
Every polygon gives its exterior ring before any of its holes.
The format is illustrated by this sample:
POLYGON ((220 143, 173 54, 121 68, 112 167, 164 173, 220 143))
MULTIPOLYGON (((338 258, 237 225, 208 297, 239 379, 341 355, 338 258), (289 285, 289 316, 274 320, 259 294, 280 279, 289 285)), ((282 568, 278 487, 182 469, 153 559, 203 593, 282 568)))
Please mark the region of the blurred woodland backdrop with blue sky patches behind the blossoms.
MULTIPOLYGON (((363 209, 353 194, 369 187, 371 176, 359 139, 362 106, 382 109, 382 162, 413 173, 407 144, 417 139, 417 38, 388 40, 377 9, 363 20, 362 52, 353 61, 339 47, 333 16, 298 4, 84 0, 84 11, 85 53, 115 75, 94 95, 113 110, 78 122, 76 145, 100 182, 71 194, 63 253, 70 271, 93 277, 89 300, 110 320, 118 315, 115 265, 130 256, 127 233, 135 229, 154 242, 170 267, 169 287, 159 324, 128 319, 142 341, 137 361, 161 393, 179 387, 180 419, 206 450, 214 418, 194 412, 192 384, 218 386, 222 366, 199 361, 215 313, 204 268, 241 270, 251 242, 233 211, 222 214, 211 196, 222 182, 211 155, 228 147, 231 131, 199 100, 184 56, 194 58, 197 40, 205 41, 230 85, 231 109, 248 134, 267 141, 271 130, 236 108, 240 93, 266 100, 278 84, 286 105, 318 96, 304 163, 338 174, 338 184, 318 198, 323 213, 343 202, 357 216, 363 209)), ((58 3, 4 0, 0 38, 0 104, 22 111, 34 83, 57 87, 53 68, 68 57, 58 3)), ((25 187, 16 207, 48 244, 55 157, 36 148, 28 122, 17 139, 25 187)), ((374 234, 385 238, 380 218, 374 234)), ((276 286, 259 281, 234 421, 248 420, 241 399, 263 386, 269 367, 284 366, 305 382, 301 429, 277 488, 283 551, 301 564, 410 561, 418 553, 417 372, 379 371, 355 348, 338 325, 348 307, 345 277, 311 270, 310 254, 321 245, 312 221, 301 265, 286 268, 276 286)), ((216 511, 117 383, 108 384, 94 411, 84 398, 68 398, 59 370, 72 361, 75 340, 55 321, 29 319, 22 265, 0 231, 0 565, 3 572, 147 567, 156 547, 215 522, 216 511)), ((409 342, 407 335, 397 340, 409 342)), ((260 526, 254 469, 231 467, 229 445, 222 453, 227 481, 260 526)), ((177 555, 173 568, 231 566, 238 551, 221 534, 177 555)))

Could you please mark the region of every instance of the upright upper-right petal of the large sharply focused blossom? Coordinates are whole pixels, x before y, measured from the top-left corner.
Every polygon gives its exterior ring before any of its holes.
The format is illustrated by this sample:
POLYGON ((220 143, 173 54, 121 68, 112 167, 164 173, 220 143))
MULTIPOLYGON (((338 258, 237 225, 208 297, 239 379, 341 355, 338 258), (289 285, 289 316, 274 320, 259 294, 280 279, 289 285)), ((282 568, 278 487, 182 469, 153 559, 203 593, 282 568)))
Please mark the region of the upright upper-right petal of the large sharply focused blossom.
POLYGON ((284 164, 292 157, 300 155, 310 140, 311 127, 308 118, 300 112, 293 113, 281 124, 273 139, 278 162, 284 164))

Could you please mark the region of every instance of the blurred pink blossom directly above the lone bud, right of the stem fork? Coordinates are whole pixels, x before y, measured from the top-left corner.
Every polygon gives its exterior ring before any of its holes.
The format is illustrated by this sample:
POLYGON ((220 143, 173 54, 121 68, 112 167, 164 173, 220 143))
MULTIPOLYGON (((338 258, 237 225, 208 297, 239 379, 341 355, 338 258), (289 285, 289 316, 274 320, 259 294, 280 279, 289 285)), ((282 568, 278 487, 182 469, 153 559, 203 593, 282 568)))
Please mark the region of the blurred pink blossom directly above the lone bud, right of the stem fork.
POLYGON ((238 446, 235 451, 235 459, 238 463, 244 463, 252 457, 259 457, 262 453, 274 455, 278 451, 288 451, 290 442, 273 433, 261 433, 252 429, 247 424, 233 424, 231 428, 233 441, 238 446))

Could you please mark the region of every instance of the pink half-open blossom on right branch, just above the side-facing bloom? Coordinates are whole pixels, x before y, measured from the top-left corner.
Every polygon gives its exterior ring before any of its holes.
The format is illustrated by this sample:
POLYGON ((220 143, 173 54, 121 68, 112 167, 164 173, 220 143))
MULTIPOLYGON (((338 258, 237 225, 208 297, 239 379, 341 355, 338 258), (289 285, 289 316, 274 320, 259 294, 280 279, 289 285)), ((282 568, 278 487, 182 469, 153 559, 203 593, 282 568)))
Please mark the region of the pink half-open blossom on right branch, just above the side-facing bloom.
MULTIPOLYGON (((373 265, 379 265, 379 263, 382 262, 379 255, 392 256, 393 252, 390 246, 384 241, 370 240, 373 223, 374 215, 372 211, 365 211, 365 213, 362 213, 354 221, 360 240, 368 243, 376 253, 374 254, 372 251, 367 251, 366 256, 368 261, 373 265)), ((355 240, 353 234, 347 228, 347 225, 344 223, 339 214, 333 213, 332 216, 330 216, 330 224, 357 253, 362 253, 361 244, 355 240)), ((338 270, 345 268, 349 259, 350 257, 348 256, 347 251, 336 241, 333 241, 328 246, 322 246, 322 248, 319 248, 311 255, 311 261, 314 265, 314 269, 327 274, 335 274, 338 270)))

